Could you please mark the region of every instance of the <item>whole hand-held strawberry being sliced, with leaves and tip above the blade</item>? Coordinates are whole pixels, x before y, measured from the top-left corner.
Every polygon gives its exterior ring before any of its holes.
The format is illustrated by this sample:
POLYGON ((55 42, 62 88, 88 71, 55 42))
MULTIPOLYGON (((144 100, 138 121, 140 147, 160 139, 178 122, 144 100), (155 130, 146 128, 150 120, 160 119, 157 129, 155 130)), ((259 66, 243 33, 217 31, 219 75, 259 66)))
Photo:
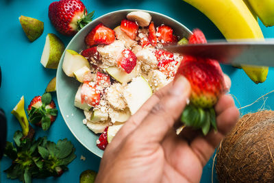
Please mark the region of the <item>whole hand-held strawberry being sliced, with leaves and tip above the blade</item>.
MULTIPOLYGON (((190 44, 206 43, 199 29, 195 29, 189 38, 190 44)), ((177 75, 184 75, 191 86, 190 103, 184 109, 181 121, 186 126, 201 128, 208 134, 210 126, 216 130, 214 105, 225 93, 225 81, 219 62, 208 58, 184 56, 177 75)))

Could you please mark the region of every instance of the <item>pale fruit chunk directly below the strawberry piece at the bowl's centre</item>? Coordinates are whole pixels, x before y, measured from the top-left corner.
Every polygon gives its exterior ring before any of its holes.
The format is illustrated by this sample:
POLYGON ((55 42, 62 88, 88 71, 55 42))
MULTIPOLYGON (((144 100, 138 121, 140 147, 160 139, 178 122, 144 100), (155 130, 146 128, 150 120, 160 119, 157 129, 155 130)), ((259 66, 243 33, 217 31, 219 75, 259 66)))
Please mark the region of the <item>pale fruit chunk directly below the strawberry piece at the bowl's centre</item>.
POLYGON ((131 73, 126 73, 121 68, 116 66, 111 66, 105 69, 115 80, 121 82, 121 84, 128 83, 132 78, 138 76, 138 71, 134 69, 131 73))

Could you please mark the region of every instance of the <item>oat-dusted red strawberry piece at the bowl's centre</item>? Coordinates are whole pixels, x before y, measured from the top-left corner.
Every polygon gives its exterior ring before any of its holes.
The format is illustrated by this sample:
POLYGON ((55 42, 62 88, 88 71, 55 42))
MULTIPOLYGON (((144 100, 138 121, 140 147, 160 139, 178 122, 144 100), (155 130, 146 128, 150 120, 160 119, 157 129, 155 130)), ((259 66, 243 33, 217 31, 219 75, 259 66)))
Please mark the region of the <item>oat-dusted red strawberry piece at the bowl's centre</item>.
POLYGON ((136 66, 137 58, 129 49, 124 49, 117 61, 117 65, 121 66, 127 73, 131 73, 136 66))

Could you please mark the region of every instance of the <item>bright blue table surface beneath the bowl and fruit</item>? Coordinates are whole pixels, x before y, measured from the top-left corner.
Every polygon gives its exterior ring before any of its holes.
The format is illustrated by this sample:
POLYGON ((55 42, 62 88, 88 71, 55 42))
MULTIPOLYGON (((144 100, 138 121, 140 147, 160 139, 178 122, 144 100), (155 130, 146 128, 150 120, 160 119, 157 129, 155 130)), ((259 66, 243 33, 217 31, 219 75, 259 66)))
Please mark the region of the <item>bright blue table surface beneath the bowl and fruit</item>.
MULTIPOLYGON (((45 69, 40 64, 42 49, 45 44, 45 37, 48 33, 57 34, 67 45, 71 37, 58 34, 51 25, 47 16, 49 4, 52 1, 43 0, 1 0, 0 1, 0 17, 1 17, 1 45, 0 45, 0 65, 2 69, 2 85, 0 88, 0 108, 3 108, 8 119, 8 141, 12 141, 12 136, 16 130, 21 127, 15 117, 10 114, 12 108, 19 101, 20 97, 25 97, 25 108, 32 98, 36 95, 42 95, 45 91, 47 83, 55 76, 55 69, 45 69), (34 42, 29 42, 25 36, 18 17, 31 16, 45 23, 44 33, 34 42)), ((128 8, 136 8, 143 10, 151 10, 171 16, 173 19, 183 23, 189 29, 199 27, 208 39, 223 38, 221 32, 216 26, 201 12, 192 8, 191 5, 184 3, 182 0, 83 0, 88 11, 95 10, 95 17, 99 17, 105 13, 114 10, 122 10, 128 8)), ((266 38, 274 37, 274 27, 264 27, 260 23, 262 31, 266 38)), ((222 66, 223 71, 232 79, 232 88, 230 93, 237 99, 236 105, 247 106, 249 103, 256 101, 260 96, 269 93, 274 88, 274 69, 269 70, 269 76, 263 84, 254 84, 249 80, 244 71, 234 69, 231 66, 222 66)), ((57 103, 56 95, 53 99, 57 103)), ((243 108, 242 114, 247 112, 256 112, 260 108, 273 108, 273 94, 264 97, 257 103, 243 108)), ((86 169, 98 171, 100 158, 85 149, 71 134, 69 128, 66 127, 61 114, 51 126, 48 132, 37 130, 36 136, 48 136, 49 140, 57 142, 58 139, 68 138, 76 147, 77 158, 69 164, 69 171, 66 171, 60 178, 47 178, 45 180, 34 180, 33 182, 79 182, 79 175, 86 169), (80 157, 86 157, 86 160, 80 160, 80 157)), ((213 156, 212 156, 213 158, 213 156)), ((212 158, 203 169, 201 182, 217 182, 214 173, 212 177, 212 158)), ((18 180, 8 180, 4 169, 10 166, 10 160, 3 158, 1 160, 1 182, 18 182, 18 180)))

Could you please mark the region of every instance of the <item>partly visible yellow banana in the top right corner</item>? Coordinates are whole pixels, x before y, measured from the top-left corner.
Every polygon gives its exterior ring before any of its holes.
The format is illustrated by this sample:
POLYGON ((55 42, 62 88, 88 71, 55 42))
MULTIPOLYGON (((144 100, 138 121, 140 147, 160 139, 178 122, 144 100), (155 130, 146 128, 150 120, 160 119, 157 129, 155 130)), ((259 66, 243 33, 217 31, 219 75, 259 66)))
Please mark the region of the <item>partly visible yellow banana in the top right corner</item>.
POLYGON ((245 0, 252 10, 256 12, 262 23, 266 26, 274 25, 274 1, 273 0, 245 0))

